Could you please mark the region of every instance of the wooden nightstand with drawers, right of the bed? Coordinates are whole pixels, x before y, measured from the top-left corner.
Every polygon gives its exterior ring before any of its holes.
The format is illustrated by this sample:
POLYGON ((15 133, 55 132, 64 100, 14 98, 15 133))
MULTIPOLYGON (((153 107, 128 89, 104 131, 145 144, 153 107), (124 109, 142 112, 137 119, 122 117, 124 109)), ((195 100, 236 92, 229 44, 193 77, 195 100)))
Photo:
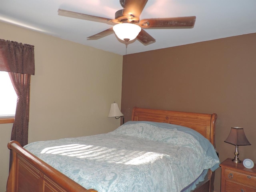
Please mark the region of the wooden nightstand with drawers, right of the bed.
POLYGON ((244 167, 227 158, 221 166, 221 192, 256 192, 256 166, 244 167))

